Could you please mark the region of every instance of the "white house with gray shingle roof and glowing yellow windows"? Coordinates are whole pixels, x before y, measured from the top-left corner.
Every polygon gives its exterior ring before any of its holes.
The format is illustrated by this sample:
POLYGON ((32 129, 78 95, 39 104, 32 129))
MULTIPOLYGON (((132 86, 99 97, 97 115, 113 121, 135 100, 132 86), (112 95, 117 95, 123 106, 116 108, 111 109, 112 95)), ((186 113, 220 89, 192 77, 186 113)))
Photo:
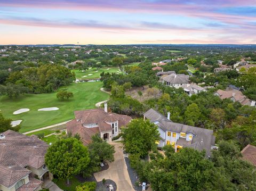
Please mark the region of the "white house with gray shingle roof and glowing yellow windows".
POLYGON ((170 120, 170 112, 167 118, 161 113, 150 109, 144 113, 144 120, 148 119, 151 123, 156 124, 160 134, 158 147, 172 145, 175 152, 179 152, 182 147, 194 148, 198 151, 205 150, 206 157, 211 156, 211 150, 215 145, 213 130, 203 129, 186 124, 174 123, 170 120))

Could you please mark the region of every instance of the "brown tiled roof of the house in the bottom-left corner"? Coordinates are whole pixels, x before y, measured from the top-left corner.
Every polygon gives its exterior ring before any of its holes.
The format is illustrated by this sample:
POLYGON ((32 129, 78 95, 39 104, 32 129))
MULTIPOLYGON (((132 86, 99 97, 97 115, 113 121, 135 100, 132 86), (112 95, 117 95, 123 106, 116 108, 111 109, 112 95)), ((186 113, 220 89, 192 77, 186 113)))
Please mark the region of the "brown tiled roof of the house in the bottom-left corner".
POLYGON ((49 145, 34 136, 7 130, 0 139, 0 184, 12 186, 31 172, 25 167, 42 167, 49 145))

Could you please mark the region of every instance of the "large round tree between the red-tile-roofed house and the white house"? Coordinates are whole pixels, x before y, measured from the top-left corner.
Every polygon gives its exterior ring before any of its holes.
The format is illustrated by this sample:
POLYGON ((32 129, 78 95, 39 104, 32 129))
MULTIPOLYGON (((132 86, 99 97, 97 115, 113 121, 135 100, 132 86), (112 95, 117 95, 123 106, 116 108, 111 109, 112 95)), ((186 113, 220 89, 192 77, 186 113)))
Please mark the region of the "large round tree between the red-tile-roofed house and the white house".
POLYGON ((156 147, 155 142, 159 140, 157 129, 157 126, 149 120, 132 120, 127 128, 122 129, 125 150, 145 157, 152 148, 156 147))

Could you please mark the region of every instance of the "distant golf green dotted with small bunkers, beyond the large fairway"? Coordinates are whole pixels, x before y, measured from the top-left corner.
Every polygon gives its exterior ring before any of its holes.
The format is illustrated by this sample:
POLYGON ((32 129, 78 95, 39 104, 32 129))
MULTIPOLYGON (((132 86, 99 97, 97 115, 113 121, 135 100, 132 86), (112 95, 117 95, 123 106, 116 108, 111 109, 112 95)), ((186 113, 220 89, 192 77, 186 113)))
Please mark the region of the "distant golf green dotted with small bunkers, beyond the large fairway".
POLYGON ((102 72, 109 73, 122 73, 119 68, 100 68, 99 70, 96 68, 92 68, 90 70, 80 71, 80 70, 71 70, 75 72, 77 79, 96 79, 100 78, 100 74, 102 72))

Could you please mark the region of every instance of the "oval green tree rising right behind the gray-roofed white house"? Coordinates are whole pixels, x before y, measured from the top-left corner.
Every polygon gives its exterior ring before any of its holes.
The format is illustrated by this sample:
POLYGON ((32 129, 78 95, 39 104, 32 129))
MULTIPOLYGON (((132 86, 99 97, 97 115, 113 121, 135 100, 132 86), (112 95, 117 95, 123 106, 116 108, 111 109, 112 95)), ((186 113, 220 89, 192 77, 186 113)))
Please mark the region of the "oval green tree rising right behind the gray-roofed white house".
POLYGON ((191 103, 187 106, 185 111, 185 118, 188 125, 195 126, 195 123, 198 121, 200 115, 201 112, 196 103, 191 103))

